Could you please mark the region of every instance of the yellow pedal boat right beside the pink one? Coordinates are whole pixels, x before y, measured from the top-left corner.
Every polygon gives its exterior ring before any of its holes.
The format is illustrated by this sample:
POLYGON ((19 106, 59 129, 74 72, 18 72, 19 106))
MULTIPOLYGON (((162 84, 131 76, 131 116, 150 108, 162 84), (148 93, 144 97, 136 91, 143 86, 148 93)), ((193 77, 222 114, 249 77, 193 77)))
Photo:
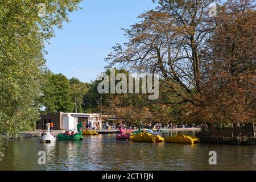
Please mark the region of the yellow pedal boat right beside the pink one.
POLYGON ((152 135, 150 133, 137 133, 137 134, 131 135, 130 141, 156 143, 156 142, 164 142, 164 138, 161 137, 160 135, 152 135))

